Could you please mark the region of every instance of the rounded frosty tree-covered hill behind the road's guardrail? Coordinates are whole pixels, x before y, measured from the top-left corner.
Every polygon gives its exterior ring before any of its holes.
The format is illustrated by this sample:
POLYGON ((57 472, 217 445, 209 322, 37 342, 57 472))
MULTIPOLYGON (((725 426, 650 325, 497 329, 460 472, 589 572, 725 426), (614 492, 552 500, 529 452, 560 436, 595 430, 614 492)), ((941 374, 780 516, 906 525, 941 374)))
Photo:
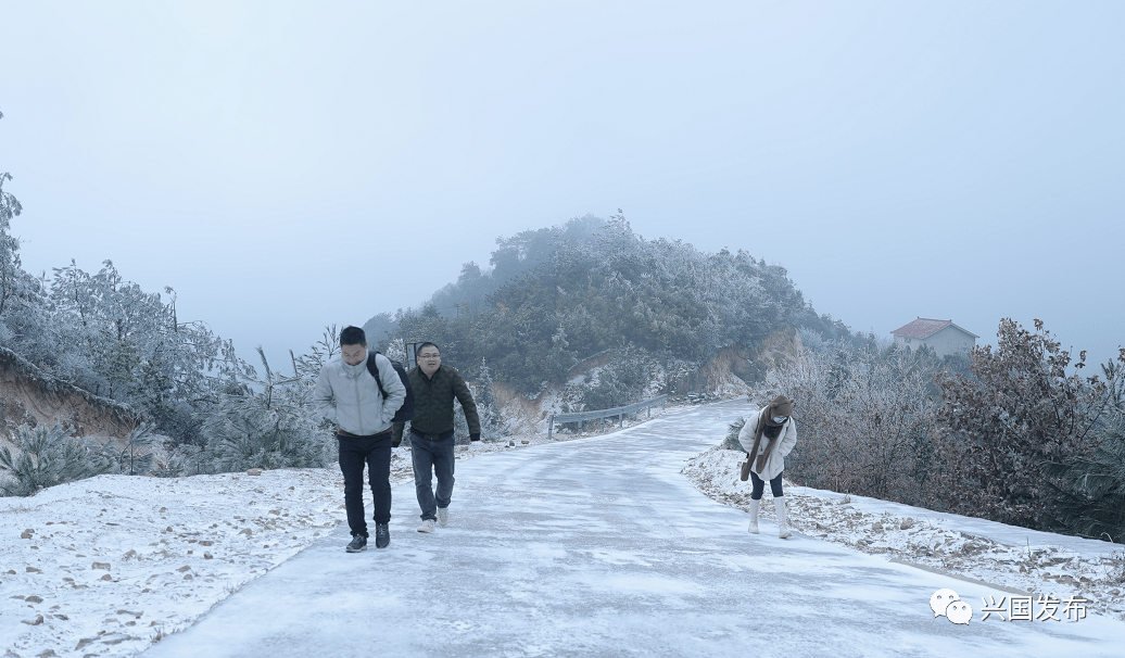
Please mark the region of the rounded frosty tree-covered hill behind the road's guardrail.
POLYGON ((497 241, 490 272, 462 270, 422 309, 399 310, 399 335, 430 340, 466 377, 482 358, 497 380, 537 394, 579 360, 634 345, 665 371, 699 370, 731 345, 754 349, 778 328, 809 327, 826 341, 847 327, 818 316, 783 268, 745 251, 706 254, 681 241, 649 241, 622 213, 497 241), (492 278, 484 299, 458 296, 492 278), (559 328, 562 327, 560 332, 559 328))

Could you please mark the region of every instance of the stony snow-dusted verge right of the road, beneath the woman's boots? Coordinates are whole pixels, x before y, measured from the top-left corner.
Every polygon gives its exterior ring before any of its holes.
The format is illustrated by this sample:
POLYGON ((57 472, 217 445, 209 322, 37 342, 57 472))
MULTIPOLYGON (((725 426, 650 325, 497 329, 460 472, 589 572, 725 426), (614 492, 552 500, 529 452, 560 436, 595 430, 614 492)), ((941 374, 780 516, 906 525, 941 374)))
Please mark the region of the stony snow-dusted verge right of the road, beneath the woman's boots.
MULTIPOLYGON (((744 460, 742 452, 716 447, 682 472, 711 498, 745 511, 750 483, 738 479, 744 460)), ((1091 601, 1089 611, 1125 620, 1120 546, 789 483, 784 493, 791 525, 809 537, 1012 594, 1081 596, 1091 601)), ((762 519, 774 521, 772 501, 766 487, 762 519)))

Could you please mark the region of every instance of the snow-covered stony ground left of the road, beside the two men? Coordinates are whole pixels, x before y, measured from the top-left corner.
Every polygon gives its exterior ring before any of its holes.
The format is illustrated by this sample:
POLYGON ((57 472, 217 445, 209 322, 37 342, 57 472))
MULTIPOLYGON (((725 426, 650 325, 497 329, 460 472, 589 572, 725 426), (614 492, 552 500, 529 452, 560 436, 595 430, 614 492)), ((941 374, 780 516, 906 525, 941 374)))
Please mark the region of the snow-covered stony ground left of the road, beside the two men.
MULTIPOLYGON (((477 442, 457 458, 542 443, 477 442)), ((394 450, 390 469, 393 485, 413 479, 407 448, 394 450)), ((99 476, 0 498, 0 647, 21 658, 130 656, 344 520, 333 468, 99 476)))

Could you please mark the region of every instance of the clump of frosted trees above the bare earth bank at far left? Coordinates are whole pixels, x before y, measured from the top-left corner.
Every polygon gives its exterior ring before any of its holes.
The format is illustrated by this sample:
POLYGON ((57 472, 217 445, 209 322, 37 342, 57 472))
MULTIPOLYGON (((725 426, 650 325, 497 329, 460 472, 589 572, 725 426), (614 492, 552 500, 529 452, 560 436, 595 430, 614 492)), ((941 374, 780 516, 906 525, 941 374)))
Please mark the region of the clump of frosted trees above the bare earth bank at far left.
POLYGON ((96 273, 72 260, 51 280, 29 276, 11 231, 22 208, 3 189, 10 180, 0 173, 0 346, 8 360, 47 389, 78 387, 176 441, 198 442, 195 416, 248 368, 233 345, 201 322, 180 319, 174 290, 145 292, 111 261, 96 273))

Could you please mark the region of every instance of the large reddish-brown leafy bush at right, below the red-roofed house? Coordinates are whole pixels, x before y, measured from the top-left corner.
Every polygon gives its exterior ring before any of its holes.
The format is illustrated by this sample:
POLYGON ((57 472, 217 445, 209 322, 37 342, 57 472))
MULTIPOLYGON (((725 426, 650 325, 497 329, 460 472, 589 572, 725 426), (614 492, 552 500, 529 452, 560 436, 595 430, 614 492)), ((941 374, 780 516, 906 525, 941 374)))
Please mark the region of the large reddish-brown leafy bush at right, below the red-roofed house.
POLYGON ((1005 318, 997 339, 994 350, 973 349, 972 377, 938 382, 945 501, 958 513, 1040 528, 1051 495, 1043 465, 1089 458, 1110 390, 1080 375, 1084 352, 1068 371, 1070 352, 1042 321, 1029 332, 1005 318))

